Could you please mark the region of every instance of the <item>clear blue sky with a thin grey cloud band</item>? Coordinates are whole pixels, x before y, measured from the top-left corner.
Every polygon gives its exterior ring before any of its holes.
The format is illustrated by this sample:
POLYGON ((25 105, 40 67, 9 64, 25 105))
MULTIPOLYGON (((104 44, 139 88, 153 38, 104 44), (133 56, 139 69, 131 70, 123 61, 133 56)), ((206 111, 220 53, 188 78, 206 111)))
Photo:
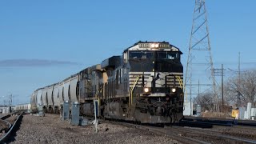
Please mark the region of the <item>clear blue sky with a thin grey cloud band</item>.
MULTIPOLYGON (((214 66, 226 77, 256 65, 256 1, 206 0, 214 66)), ((60 82, 138 41, 190 43, 194 0, 0 1, 0 105, 30 102, 39 87, 60 82)))

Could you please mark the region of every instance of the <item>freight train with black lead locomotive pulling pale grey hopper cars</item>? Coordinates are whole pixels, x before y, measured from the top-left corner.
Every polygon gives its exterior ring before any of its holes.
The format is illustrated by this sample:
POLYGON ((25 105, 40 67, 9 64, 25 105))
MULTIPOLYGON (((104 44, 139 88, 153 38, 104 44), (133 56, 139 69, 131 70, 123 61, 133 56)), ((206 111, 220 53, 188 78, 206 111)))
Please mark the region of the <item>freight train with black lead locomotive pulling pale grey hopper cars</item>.
POLYGON ((183 111, 182 52, 169 42, 137 42, 122 56, 35 90, 32 110, 62 111, 64 102, 78 102, 80 114, 142 123, 178 122, 183 111))

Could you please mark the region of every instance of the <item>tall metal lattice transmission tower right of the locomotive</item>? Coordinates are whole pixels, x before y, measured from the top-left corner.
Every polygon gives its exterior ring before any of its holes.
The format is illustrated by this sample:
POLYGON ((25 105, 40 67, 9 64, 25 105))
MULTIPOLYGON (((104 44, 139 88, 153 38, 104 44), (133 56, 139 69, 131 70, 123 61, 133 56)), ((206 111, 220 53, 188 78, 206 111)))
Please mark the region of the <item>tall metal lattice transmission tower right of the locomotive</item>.
MULTIPOLYGON (((191 99, 200 94, 210 94, 214 106, 210 110, 219 112, 218 94, 214 78, 214 63, 211 54, 205 0, 195 0, 194 18, 190 34, 190 47, 186 63, 186 93, 191 99)), ((209 102, 210 104, 210 102, 209 102)))

